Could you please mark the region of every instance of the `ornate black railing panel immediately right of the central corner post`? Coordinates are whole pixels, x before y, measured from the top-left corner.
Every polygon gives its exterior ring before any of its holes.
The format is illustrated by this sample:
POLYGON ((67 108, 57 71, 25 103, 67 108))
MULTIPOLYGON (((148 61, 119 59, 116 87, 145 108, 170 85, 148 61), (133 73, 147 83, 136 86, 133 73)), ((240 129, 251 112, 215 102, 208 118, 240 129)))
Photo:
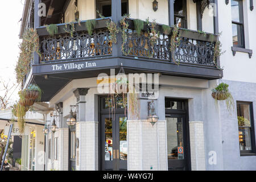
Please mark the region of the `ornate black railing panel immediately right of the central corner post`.
POLYGON ((154 46, 151 46, 150 36, 147 33, 139 35, 130 30, 127 32, 127 41, 123 49, 125 55, 148 57, 152 59, 170 60, 170 39, 161 34, 154 46))

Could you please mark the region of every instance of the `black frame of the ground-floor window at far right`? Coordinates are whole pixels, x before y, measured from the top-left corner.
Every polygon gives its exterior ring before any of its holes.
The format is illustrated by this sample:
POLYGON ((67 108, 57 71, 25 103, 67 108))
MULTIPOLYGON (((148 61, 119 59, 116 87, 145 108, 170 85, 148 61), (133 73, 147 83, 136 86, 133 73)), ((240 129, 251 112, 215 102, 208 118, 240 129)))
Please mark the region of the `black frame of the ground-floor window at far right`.
MULTIPOLYGON (((255 127, 254 127, 254 116, 253 116, 253 102, 246 102, 246 101, 237 101, 237 107, 238 105, 249 105, 249 111, 250 111, 250 135, 251 135, 251 150, 240 150, 240 156, 248 156, 248 155, 256 155, 255 149, 255 127)), ((237 117, 241 116, 238 115, 237 113, 237 117)), ((238 124, 238 120, 237 120, 237 124, 238 124)), ((238 133, 239 133, 239 125, 238 125, 238 133)), ((239 134, 238 134, 239 135, 239 134)))

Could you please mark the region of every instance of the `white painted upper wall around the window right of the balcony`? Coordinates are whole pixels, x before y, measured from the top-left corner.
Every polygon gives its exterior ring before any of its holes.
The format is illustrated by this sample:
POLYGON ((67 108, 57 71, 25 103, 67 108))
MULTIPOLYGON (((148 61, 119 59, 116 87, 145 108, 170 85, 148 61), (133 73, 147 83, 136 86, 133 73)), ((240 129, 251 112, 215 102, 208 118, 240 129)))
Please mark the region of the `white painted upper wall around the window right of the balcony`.
POLYGON ((237 52, 233 56, 231 47, 232 42, 232 16, 231 16, 231 3, 225 4, 225 1, 218 1, 218 22, 219 29, 222 32, 220 41, 222 43, 222 50, 226 51, 220 57, 221 67, 224 68, 224 79, 232 81, 243 82, 256 82, 255 68, 256 68, 256 26, 255 18, 256 11, 250 11, 250 1, 243 1, 243 18, 245 21, 245 44, 247 49, 253 50, 253 56, 249 59, 248 53, 237 52), (247 23, 250 22, 250 23, 247 23))

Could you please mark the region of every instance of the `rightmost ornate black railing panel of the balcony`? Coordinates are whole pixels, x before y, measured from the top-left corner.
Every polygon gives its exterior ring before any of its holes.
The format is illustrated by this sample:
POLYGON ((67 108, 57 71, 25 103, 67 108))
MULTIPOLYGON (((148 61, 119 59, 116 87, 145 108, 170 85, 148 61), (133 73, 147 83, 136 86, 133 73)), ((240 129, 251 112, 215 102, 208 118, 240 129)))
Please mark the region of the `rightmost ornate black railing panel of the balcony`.
POLYGON ((181 38, 180 46, 175 50, 175 60, 180 63, 214 65, 214 42, 205 42, 181 38))

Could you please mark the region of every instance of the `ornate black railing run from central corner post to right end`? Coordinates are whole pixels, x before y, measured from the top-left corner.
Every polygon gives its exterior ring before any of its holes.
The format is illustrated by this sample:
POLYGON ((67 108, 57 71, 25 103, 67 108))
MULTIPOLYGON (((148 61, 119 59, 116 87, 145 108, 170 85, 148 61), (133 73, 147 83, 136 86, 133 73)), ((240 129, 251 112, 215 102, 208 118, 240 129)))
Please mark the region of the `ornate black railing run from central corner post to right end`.
POLYGON ((147 33, 138 36, 135 31, 130 30, 127 32, 127 41, 123 46, 123 54, 176 63, 179 61, 180 63, 214 66, 214 42, 182 37, 174 56, 171 56, 170 41, 170 36, 160 34, 156 44, 151 46, 150 37, 147 33))

